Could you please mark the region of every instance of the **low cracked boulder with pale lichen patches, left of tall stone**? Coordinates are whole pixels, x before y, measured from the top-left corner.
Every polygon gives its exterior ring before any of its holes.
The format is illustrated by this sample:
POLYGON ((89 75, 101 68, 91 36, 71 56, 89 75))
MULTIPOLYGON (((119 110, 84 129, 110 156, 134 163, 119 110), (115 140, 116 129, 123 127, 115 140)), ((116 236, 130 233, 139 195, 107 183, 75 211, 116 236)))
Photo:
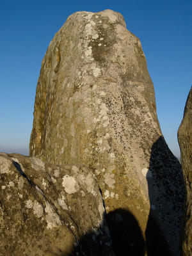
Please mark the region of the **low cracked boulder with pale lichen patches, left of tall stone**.
POLYGON ((0 153, 0 255, 113 255, 95 177, 0 153))

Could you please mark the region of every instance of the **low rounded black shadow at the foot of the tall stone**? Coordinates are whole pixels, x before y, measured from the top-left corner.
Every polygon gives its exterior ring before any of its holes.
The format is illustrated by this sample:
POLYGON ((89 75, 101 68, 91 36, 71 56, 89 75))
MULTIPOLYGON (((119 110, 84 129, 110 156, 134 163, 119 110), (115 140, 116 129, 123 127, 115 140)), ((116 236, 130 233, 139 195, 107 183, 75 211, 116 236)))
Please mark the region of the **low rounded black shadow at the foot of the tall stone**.
POLYGON ((116 209, 106 214, 106 222, 102 223, 97 230, 88 232, 74 248, 71 256, 143 256, 145 255, 145 242, 141 234, 138 221, 131 212, 124 209, 116 209), (112 240, 111 244, 103 241, 103 224, 108 225, 112 240))

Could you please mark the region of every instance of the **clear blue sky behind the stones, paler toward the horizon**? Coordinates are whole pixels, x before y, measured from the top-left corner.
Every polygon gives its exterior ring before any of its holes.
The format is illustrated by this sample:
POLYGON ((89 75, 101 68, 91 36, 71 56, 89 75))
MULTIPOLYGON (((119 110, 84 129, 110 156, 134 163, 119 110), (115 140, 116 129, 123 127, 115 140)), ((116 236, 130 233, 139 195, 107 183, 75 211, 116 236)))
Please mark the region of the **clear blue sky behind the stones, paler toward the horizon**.
POLYGON ((1 1, 0 151, 28 154, 41 61, 49 42, 77 11, 111 9, 141 40, 154 82, 157 116, 175 156, 177 130, 192 84, 192 1, 1 1))

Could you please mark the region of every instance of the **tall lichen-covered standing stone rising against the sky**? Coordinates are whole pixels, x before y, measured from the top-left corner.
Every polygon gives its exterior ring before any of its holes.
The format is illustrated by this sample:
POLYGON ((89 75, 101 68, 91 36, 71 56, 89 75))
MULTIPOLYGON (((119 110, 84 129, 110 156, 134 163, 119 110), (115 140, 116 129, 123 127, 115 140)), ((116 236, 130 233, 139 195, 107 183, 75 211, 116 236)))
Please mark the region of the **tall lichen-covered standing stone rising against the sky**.
POLYGON ((147 223, 157 222, 179 255, 180 164, 161 134, 140 40, 120 13, 77 12, 56 33, 42 61, 29 147, 51 163, 88 165, 107 212, 131 212, 144 237, 147 228, 147 244, 157 232, 147 223))

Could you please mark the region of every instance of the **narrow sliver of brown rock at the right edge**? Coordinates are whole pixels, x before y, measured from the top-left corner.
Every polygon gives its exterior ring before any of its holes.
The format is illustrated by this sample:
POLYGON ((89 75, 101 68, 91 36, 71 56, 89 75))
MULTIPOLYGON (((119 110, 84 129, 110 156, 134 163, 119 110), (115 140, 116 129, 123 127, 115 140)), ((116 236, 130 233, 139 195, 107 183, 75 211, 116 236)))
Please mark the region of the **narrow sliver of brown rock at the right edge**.
POLYGON ((184 116, 178 131, 180 160, 186 186, 184 228, 182 231, 182 253, 192 255, 192 88, 184 109, 184 116))

